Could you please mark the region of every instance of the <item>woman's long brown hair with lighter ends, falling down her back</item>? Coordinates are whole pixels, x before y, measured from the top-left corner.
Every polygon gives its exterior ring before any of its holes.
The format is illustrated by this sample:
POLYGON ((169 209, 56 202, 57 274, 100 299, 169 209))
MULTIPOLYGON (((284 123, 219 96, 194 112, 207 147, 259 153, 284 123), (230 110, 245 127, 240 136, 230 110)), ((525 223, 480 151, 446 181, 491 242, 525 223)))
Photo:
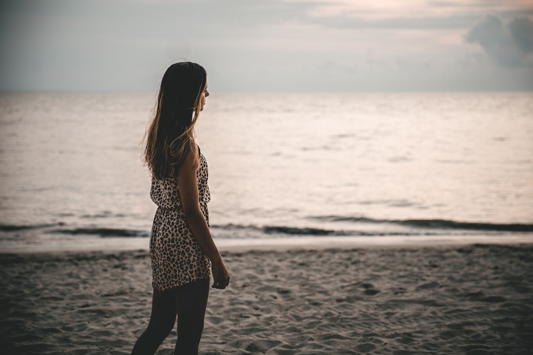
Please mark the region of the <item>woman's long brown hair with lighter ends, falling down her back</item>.
MULTIPOLYGON (((177 176, 185 155, 195 147, 194 127, 207 74, 191 62, 172 64, 165 72, 154 118, 144 135, 143 161, 157 179, 177 176)), ((196 150, 196 166, 199 157, 196 150)))

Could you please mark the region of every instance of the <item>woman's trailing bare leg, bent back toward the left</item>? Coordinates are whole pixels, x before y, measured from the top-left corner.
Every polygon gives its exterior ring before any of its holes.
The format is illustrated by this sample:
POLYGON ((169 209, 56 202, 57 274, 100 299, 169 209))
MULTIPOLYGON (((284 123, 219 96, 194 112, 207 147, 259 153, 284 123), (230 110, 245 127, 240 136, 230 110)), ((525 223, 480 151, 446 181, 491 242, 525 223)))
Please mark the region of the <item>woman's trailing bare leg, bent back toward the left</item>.
POLYGON ((133 346, 132 355, 154 354, 172 331, 175 322, 176 298, 174 292, 160 292, 154 289, 150 323, 133 346))

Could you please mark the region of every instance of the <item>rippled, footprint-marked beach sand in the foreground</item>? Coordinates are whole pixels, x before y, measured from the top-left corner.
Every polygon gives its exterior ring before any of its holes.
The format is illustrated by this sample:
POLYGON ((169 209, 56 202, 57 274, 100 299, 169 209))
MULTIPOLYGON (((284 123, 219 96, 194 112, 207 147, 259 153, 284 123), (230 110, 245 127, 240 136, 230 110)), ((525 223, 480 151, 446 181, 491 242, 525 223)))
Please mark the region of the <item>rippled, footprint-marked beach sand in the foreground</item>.
MULTIPOLYGON (((530 354, 533 245, 224 252, 202 354, 530 354)), ((146 251, 2 254, 0 352, 129 354, 146 251)), ((158 354, 172 354, 176 333, 158 354)))

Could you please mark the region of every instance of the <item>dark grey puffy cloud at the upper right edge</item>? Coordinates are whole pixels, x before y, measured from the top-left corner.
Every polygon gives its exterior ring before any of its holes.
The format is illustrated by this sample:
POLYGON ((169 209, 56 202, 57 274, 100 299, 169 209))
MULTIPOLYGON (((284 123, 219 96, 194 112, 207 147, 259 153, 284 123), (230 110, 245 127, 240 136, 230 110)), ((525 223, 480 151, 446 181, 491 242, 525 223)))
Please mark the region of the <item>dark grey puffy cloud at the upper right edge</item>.
POLYGON ((516 17, 504 23, 496 16, 487 16, 467 32, 465 40, 479 44, 498 65, 522 67, 533 53, 533 23, 516 17))

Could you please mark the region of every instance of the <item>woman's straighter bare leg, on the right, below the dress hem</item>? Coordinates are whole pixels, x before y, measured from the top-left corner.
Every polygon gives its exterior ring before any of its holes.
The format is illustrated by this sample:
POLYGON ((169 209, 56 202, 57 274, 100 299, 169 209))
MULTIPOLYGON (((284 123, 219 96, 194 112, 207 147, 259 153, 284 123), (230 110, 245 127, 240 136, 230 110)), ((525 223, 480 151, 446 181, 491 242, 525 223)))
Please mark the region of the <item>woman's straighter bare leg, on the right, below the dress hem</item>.
POLYGON ((197 355, 204 330, 209 279, 196 280, 176 289, 177 341, 174 355, 197 355))

